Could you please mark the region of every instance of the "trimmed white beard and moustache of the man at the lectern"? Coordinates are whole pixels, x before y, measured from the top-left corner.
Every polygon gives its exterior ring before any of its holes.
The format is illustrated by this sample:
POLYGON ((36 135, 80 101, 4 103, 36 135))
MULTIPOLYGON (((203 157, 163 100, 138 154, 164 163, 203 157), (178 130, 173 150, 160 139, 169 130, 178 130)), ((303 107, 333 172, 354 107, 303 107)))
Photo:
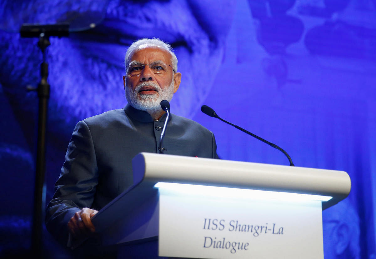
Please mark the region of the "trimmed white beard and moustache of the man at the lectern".
POLYGON ((162 90, 157 84, 151 81, 145 81, 137 85, 134 91, 126 86, 125 97, 128 103, 137 110, 146 111, 149 114, 162 111, 161 101, 171 101, 174 94, 174 80, 171 84, 162 90), (158 92, 155 94, 139 94, 139 90, 145 86, 152 86, 158 92))

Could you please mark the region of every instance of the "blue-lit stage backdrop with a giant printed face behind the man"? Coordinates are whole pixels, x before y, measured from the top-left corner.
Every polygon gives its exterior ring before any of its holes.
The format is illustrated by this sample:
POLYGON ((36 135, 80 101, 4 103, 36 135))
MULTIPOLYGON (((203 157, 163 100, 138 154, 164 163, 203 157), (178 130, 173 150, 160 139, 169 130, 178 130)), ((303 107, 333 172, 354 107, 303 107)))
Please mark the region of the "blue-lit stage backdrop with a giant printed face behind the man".
MULTIPOLYGON (((0 17, 2 255, 29 248, 33 207, 38 98, 26 87, 39 82, 42 57, 37 39, 17 31, 70 21, 75 32, 48 47, 47 200, 74 125, 126 105, 124 53, 157 37, 182 73, 171 111, 211 130, 223 159, 288 165, 203 104, 296 166, 346 171, 349 197, 323 212, 325 259, 376 258, 375 0, 2 0, 0 17)), ((46 257, 64 257, 44 236, 46 257)))

